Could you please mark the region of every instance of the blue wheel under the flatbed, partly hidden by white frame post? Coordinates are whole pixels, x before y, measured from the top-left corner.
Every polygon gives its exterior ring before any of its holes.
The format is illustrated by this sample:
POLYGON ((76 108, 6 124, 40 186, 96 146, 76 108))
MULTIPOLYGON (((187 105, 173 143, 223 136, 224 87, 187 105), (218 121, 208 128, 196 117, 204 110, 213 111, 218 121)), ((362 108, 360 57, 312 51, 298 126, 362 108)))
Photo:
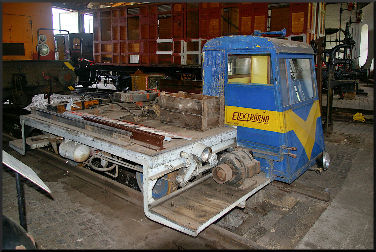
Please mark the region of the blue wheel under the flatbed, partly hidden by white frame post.
MULTIPOLYGON (((177 172, 166 174, 164 177, 170 180, 176 179, 177 172)), ((142 173, 136 172, 136 180, 138 187, 140 188, 141 192, 144 192, 143 190, 143 181, 144 176, 142 173)), ((167 194, 170 194, 171 192, 176 191, 177 185, 175 183, 172 183, 170 181, 164 180, 164 179, 158 179, 155 183, 155 186, 152 190, 152 197, 155 200, 158 200, 162 197, 164 197, 167 194)))

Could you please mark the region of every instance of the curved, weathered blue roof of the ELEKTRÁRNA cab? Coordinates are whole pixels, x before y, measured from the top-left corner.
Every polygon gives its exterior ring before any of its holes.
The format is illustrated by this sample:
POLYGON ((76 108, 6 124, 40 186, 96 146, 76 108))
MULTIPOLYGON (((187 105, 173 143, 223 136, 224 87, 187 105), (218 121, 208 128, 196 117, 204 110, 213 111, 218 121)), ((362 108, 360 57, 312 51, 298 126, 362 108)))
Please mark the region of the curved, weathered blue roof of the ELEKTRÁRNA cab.
POLYGON ((312 47, 307 43, 251 35, 233 35, 212 38, 211 40, 208 40, 205 43, 202 50, 206 51, 248 49, 273 49, 276 51, 276 53, 315 53, 312 47))

